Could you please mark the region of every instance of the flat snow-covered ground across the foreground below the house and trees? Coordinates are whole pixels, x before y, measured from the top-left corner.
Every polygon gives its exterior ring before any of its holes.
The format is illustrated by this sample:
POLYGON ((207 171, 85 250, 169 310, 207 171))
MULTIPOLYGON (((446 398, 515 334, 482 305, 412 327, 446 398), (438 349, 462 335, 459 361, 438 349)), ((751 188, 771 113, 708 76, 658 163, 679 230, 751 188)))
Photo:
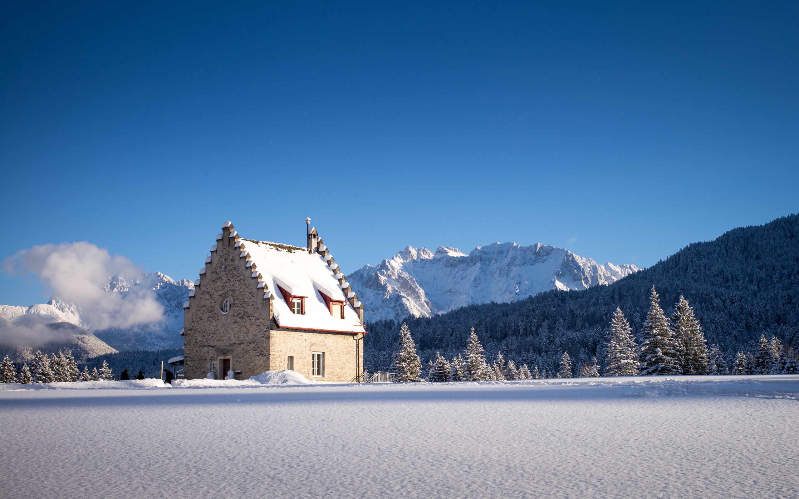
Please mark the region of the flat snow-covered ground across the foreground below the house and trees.
POLYGON ((249 381, 0 386, 2 495, 799 497, 799 376, 249 381))

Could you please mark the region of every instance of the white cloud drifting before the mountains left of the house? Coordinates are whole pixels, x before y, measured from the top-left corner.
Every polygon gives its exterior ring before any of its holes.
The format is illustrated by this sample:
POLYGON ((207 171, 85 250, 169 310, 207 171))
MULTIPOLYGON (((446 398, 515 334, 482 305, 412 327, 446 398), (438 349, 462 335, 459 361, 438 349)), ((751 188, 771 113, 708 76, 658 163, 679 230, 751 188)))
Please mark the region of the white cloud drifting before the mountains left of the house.
MULTIPOLYGON (((124 287, 141 279, 144 269, 133 265, 122 255, 109 255, 108 250, 89 243, 44 244, 17 251, 4 260, 6 272, 38 275, 46 292, 66 303, 74 303, 81 320, 92 330, 108 327, 131 327, 156 323, 163 319, 164 307, 155 293, 141 286, 125 293, 109 290, 109 283, 124 287)), ((117 286, 118 287, 118 286, 117 286)))

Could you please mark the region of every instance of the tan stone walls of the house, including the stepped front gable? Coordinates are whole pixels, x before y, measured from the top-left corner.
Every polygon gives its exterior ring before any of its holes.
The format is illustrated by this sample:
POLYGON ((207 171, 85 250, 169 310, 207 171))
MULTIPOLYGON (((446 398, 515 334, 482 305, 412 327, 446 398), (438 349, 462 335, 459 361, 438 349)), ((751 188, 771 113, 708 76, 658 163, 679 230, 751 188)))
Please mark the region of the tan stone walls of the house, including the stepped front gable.
POLYGON ((230 358, 231 369, 241 370, 236 378, 246 379, 266 370, 285 369, 288 355, 294 357, 294 370, 311 378, 311 352, 324 352, 324 378, 318 379, 355 377, 356 345, 363 369, 363 340, 356 342, 356 335, 277 329, 272 302, 258 288, 260 276, 252 263, 247 267, 247 259, 240 257, 235 247, 240 238, 237 234, 229 237, 231 231, 233 225, 223 228, 205 274, 200 275, 200 284, 184 309, 186 378, 205 378, 211 362, 219 362, 219 375, 221 359, 230 358), (222 314, 221 304, 227 298, 230 311, 222 314))

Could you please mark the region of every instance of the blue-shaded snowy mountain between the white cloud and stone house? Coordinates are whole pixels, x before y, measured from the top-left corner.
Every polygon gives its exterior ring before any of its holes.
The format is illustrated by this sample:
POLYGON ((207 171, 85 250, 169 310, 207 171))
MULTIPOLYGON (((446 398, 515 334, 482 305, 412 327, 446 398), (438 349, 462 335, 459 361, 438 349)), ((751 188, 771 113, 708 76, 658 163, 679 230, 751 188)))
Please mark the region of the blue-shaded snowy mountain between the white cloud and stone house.
POLYGON ((125 279, 115 276, 109 282, 107 291, 125 295, 133 287, 146 287, 155 292, 157 302, 164 307, 163 320, 124 329, 112 327, 93 331, 94 335, 117 350, 182 348, 183 303, 189 299, 189 291, 194 289, 194 283, 187 279, 176 282, 169 275, 153 272, 133 283, 126 283, 125 279))

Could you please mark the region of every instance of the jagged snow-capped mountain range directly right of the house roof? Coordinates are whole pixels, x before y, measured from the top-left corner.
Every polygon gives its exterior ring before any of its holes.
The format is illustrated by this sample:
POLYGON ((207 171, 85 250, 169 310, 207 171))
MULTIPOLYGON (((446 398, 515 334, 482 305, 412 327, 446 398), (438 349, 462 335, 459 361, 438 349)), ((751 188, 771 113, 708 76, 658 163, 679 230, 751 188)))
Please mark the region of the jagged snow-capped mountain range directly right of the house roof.
POLYGON ((348 275, 364 303, 364 319, 430 317, 475 303, 511 302, 553 289, 607 285, 638 271, 634 265, 600 265, 545 244, 495 243, 468 255, 440 246, 435 253, 408 246, 377 267, 348 275))

